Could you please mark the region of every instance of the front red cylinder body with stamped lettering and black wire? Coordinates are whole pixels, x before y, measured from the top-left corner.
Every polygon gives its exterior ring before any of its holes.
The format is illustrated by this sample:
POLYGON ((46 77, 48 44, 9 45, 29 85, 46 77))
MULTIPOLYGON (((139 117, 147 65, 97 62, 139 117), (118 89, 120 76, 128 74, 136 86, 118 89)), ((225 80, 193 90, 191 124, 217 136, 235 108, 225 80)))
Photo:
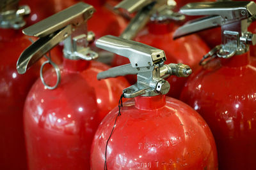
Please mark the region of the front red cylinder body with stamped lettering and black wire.
MULTIPOLYGON (((214 138, 202 117, 171 97, 136 97, 124 103, 108 143, 108 169, 218 169, 214 138)), ((99 125, 91 169, 104 169, 106 141, 118 108, 99 125)))

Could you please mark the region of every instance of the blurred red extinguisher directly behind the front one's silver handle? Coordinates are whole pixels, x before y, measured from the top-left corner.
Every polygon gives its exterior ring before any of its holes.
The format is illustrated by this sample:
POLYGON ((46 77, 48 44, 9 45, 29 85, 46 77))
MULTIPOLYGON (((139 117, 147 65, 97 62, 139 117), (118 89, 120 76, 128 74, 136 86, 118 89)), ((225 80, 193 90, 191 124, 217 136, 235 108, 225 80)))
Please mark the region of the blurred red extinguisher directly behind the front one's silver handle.
MULTIPOLYGON (((129 3, 129 1, 128 1, 129 3)), ((134 3, 134 6, 136 3, 134 3)), ((128 9, 131 7, 120 6, 120 8, 128 9)), ((133 7, 133 6, 132 6, 133 7)), ((161 48, 166 53, 166 63, 184 63, 192 67, 192 69, 198 68, 198 62, 202 56, 209 51, 208 46, 196 35, 191 35, 186 38, 173 41, 173 33, 177 29, 177 22, 184 20, 184 15, 175 13, 172 11, 173 6, 163 4, 162 1, 155 1, 153 4, 148 4, 143 8, 144 13, 148 13, 149 17, 147 27, 142 29, 138 34, 134 34, 133 37, 127 39, 134 39, 141 43, 145 43, 150 46, 156 46, 161 48), (148 6, 152 6, 148 8, 148 6), (150 11, 150 12, 149 12, 150 11)), ((138 20, 140 23, 140 20, 138 20)), ((135 25, 135 24, 134 24, 135 25)), ((122 36, 123 38, 126 38, 122 36)), ((116 56, 113 60, 113 66, 118 66, 129 62, 124 57, 116 56)), ((130 82, 136 82, 136 77, 133 76, 129 79, 130 82)), ((168 78, 169 83, 172 85, 170 92, 167 96, 178 98, 182 87, 187 78, 177 79, 174 76, 168 78)))

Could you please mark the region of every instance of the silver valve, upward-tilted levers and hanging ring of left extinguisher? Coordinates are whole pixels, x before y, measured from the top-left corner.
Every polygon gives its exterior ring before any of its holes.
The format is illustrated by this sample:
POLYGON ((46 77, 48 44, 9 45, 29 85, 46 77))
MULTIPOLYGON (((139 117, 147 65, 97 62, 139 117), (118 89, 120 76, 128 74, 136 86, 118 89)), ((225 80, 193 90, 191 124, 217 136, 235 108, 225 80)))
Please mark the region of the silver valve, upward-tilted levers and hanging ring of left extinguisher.
MULTIPOLYGON (((39 37, 35 43, 26 48, 17 61, 17 71, 26 73, 37 60, 49 52, 54 46, 64 40, 64 57, 72 60, 92 60, 98 54, 90 50, 88 45, 95 39, 93 32, 87 31, 86 22, 92 17, 95 9, 85 3, 77 3, 66 10, 60 11, 41 22, 23 30, 24 34, 39 37)), ((51 59, 43 64, 40 69, 40 77, 47 89, 55 89, 60 83, 60 69, 51 59), (51 64, 56 70, 57 83, 49 87, 44 81, 42 70, 45 64, 51 64)))

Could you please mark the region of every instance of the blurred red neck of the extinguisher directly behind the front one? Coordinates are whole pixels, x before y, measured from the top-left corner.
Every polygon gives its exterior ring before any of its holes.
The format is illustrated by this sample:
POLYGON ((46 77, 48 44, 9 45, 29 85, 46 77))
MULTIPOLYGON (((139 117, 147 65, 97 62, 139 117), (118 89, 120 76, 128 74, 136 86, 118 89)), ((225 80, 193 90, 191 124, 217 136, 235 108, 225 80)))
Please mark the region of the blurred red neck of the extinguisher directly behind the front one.
POLYGON ((152 34, 168 34, 173 31, 174 22, 149 22, 148 31, 152 34))

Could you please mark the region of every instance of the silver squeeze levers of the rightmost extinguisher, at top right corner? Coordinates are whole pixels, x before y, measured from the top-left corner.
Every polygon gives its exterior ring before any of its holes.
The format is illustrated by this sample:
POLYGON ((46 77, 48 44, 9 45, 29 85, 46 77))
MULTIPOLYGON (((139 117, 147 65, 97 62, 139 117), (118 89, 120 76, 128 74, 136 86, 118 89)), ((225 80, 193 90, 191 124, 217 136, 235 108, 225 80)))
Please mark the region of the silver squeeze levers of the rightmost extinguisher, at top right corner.
MULTIPOLYGON (((256 4, 252 1, 189 3, 180 8, 180 13, 184 13, 185 15, 208 16, 191 20, 182 25, 175 31, 173 39, 212 27, 221 26, 222 28, 222 26, 248 19, 256 14, 256 4)), ((222 29, 230 28, 232 29, 232 27, 223 27, 222 29)), ((234 25, 233 29, 235 29, 234 25)))

